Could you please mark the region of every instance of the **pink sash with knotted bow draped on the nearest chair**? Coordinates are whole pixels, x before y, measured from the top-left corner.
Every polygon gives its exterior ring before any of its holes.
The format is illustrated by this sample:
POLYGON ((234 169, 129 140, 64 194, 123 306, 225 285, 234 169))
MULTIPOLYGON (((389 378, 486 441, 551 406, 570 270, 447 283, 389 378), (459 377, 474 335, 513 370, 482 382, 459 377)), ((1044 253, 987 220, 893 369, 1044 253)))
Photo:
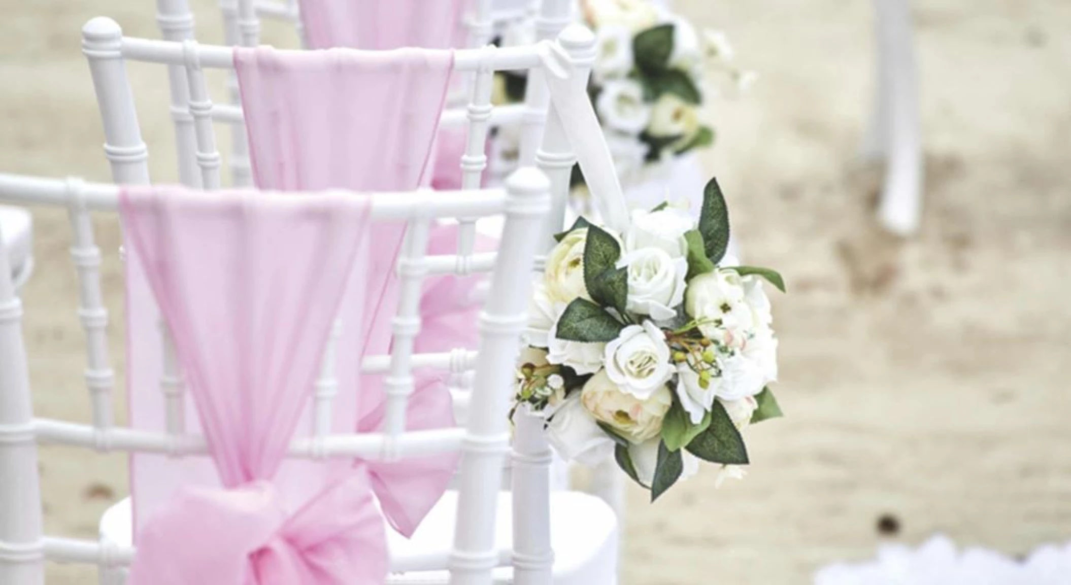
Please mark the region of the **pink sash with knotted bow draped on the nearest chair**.
POLYGON ((365 466, 325 464, 301 506, 273 482, 343 292, 366 267, 367 199, 135 188, 120 213, 222 483, 182 486, 147 514, 131 584, 382 583, 365 466))

